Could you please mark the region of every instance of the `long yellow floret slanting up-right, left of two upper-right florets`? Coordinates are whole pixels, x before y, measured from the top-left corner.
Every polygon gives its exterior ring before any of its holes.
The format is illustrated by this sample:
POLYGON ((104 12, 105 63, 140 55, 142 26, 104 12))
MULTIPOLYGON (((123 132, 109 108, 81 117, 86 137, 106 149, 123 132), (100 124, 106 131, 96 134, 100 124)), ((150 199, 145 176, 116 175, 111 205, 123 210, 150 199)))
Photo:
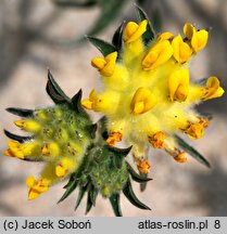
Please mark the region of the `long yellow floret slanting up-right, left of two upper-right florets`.
POLYGON ((161 40, 149 50, 142 60, 144 70, 154 69, 167 62, 173 55, 173 48, 168 40, 161 40))

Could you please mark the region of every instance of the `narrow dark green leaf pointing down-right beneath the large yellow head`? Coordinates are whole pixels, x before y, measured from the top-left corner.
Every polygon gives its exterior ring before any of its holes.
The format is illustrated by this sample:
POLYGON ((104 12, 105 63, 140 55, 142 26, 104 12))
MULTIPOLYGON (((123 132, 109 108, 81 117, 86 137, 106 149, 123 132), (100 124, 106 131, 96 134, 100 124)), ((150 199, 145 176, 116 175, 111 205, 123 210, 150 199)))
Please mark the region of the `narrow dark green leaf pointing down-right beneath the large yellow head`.
POLYGON ((189 155, 191 155, 196 160, 201 162, 202 165, 211 168, 210 162, 197 151, 194 150, 191 145, 189 145, 187 142, 185 142, 178 135, 175 135, 175 139, 177 141, 177 144, 186 151, 189 155))

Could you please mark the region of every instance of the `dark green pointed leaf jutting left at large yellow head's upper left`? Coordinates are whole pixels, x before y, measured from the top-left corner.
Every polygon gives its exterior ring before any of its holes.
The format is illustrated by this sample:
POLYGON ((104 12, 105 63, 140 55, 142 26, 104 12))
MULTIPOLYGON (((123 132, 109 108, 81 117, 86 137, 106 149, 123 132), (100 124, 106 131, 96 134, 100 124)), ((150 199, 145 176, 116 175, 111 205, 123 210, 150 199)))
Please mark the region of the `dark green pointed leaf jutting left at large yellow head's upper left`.
POLYGON ((103 56, 106 56, 108 54, 117 50, 111 43, 103 41, 99 38, 94 38, 94 37, 87 37, 87 38, 103 54, 103 56))

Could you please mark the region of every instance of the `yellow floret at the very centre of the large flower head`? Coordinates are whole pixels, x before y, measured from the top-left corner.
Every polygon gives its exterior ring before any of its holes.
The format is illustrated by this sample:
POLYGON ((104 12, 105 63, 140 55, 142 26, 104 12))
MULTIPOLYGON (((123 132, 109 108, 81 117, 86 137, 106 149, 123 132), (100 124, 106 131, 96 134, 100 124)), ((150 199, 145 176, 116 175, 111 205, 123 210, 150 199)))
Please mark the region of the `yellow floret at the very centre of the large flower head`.
POLYGON ((156 104, 156 98, 144 88, 139 88, 131 100, 130 108, 134 114, 149 112, 156 104))

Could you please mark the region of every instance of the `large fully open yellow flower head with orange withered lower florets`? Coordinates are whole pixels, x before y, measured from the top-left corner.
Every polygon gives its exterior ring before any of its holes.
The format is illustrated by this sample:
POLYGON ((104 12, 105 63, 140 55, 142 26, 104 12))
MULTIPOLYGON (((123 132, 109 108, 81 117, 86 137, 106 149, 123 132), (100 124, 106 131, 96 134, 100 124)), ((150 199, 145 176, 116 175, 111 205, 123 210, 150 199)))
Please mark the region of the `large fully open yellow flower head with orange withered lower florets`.
MULTIPOLYGON (((104 56, 91 61, 103 89, 100 93, 93 89, 83 105, 106 116, 108 144, 124 140, 133 145, 138 169, 148 173, 149 145, 164 148, 178 162, 187 160, 187 143, 176 133, 181 131, 190 139, 203 136, 209 118, 193 106, 222 96, 224 90, 216 77, 207 78, 205 84, 190 79, 190 61, 206 46, 207 30, 187 23, 184 38, 169 31, 155 36, 146 13, 139 8, 138 13, 141 22, 129 22, 125 28, 121 25, 113 44, 89 38, 104 56)), ((190 146, 188 152, 207 165, 190 146)))

